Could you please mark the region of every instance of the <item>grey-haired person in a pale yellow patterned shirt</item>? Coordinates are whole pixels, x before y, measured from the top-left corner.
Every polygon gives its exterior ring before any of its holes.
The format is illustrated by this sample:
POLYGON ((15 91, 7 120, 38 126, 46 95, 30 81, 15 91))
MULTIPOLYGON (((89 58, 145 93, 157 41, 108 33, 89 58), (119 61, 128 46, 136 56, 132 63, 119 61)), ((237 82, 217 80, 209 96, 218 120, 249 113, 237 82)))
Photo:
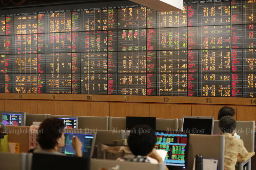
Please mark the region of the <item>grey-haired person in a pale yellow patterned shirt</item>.
POLYGON ((225 170, 235 170, 238 154, 241 158, 248 155, 242 139, 234 136, 236 129, 236 120, 231 116, 224 116, 219 121, 220 135, 225 136, 225 170))

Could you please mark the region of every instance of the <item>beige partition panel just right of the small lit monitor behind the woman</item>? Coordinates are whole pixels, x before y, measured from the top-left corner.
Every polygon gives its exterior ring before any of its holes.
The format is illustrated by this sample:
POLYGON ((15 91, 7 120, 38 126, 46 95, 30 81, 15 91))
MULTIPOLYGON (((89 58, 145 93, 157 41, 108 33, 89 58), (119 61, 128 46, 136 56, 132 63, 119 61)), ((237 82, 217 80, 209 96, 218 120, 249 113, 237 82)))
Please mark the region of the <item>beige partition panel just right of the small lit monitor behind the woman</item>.
POLYGON ((108 117, 77 116, 78 128, 108 130, 108 117))

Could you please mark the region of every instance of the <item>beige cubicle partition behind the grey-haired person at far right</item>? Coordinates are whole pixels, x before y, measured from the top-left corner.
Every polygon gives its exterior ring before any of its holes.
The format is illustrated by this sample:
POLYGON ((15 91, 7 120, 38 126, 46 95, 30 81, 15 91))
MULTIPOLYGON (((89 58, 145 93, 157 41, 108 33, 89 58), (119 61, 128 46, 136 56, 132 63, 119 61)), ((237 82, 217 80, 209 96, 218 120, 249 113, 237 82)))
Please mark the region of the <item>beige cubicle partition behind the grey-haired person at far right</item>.
MULTIPOLYGON (((213 133, 219 134, 219 121, 214 121, 213 133)), ((236 121, 236 133, 244 141, 248 152, 254 152, 254 121, 236 121)))

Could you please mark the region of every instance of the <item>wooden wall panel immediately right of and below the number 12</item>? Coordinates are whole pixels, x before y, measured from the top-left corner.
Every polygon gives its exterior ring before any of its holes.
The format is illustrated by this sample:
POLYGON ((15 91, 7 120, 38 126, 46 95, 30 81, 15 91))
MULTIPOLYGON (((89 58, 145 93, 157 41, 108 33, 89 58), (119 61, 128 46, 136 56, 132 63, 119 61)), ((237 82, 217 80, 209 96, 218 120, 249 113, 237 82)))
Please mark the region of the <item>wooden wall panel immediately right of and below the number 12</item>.
POLYGON ((182 116, 191 116, 191 105, 171 105, 171 119, 182 119, 182 116))

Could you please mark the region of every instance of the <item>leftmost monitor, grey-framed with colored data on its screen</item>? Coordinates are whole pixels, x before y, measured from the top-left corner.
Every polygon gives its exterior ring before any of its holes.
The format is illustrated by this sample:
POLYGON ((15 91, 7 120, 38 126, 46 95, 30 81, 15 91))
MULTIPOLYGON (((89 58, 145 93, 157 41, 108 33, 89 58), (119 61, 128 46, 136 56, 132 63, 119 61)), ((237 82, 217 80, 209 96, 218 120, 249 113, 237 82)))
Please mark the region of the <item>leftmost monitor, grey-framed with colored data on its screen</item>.
POLYGON ((25 126, 26 112, 0 111, 1 122, 10 126, 25 126))

